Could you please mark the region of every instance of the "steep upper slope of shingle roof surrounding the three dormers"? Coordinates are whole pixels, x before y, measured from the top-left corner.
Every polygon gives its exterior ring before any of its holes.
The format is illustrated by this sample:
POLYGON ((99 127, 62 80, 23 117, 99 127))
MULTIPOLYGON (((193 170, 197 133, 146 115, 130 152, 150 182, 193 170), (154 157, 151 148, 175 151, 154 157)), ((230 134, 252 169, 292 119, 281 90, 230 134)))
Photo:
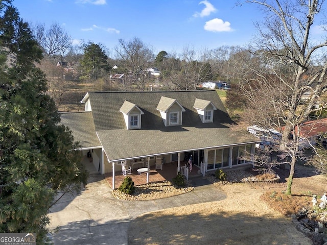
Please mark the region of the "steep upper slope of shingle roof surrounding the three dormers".
MULTIPOLYGON (((169 130, 162 121, 157 110, 161 96, 176 99, 185 109, 183 112, 183 127, 211 128, 219 127, 221 123, 231 123, 217 92, 215 90, 195 91, 149 91, 149 92, 89 92, 92 114, 96 131, 99 130, 126 130, 124 116, 120 112, 124 101, 135 104, 144 112, 141 129, 169 130), (211 101, 217 108, 214 112, 214 122, 203 124, 196 109, 193 108, 195 99, 211 101)), ((175 126, 174 126, 175 127, 175 126)), ((181 127, 181 126, 176 126, 181 127)))

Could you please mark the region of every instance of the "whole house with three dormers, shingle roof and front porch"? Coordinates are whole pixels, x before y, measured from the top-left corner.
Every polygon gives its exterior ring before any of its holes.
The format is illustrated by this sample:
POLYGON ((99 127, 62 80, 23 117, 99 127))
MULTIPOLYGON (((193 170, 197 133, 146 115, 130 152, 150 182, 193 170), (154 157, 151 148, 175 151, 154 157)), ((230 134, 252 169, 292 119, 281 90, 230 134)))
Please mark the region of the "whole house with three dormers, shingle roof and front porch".
MULTIPOLYGON (((121 171, 121 161, 145 161, 155 156, 177 162, 193 155, 193 166, 204 175, 218 168, 252 164, 250 156, 260 140, 231 129, 216 90, 88 92, 85 112, 60 113, 84 155, 101 174, 121 171), (246 156, 246 158, 241 156, 246 156)), ((165 167, 162 171, 165 171, 165 167)))

